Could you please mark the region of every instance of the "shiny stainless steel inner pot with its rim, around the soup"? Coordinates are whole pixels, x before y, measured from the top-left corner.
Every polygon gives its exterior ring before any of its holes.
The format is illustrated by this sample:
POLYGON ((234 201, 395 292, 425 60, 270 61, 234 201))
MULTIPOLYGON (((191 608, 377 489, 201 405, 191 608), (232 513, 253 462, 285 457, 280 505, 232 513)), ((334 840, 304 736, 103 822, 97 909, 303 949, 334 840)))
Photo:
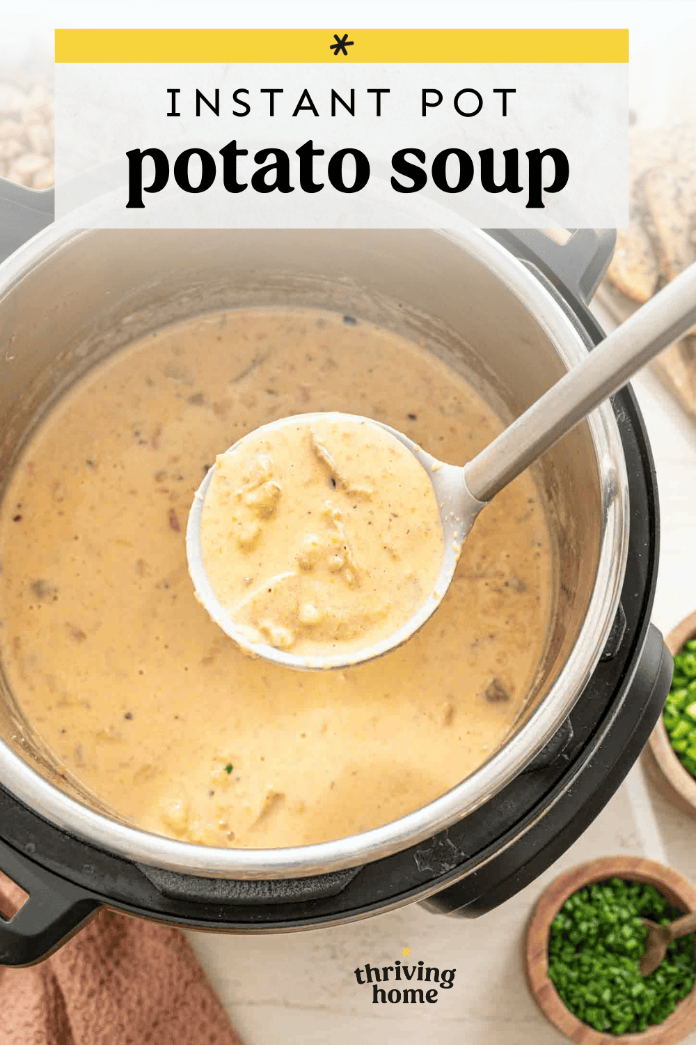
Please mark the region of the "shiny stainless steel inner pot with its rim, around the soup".
MULTIPOLYGON (((89 367, 164 325, 253 304, 351 312, 426 338, 508 419, 586 352, 541 282, 469 227, 72 232, 57 223, 0 265, 0 497, 35 425, 89 367)), ((1 665, 0 782, 97 846, 217 878, 294 878, 356 866, 459 820, 519 774, 555 733, 592 674, 617 610, 628 486, 610 407, 566 436, 538 469, 557 544, 556 613, 545 663, 505 743, 437 800, 360 835, 291 849, 222 850, 148 834, 59 775, 1 665)))

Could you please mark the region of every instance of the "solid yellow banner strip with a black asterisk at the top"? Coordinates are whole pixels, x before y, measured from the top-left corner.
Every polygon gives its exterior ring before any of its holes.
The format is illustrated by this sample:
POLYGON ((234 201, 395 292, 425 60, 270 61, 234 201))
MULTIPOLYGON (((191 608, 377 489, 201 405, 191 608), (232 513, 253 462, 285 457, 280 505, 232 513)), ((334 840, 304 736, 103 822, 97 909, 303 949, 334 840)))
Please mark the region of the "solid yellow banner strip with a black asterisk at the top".
POLYGON ((628 29, 56 29, 65 63, 623 63, 628 29))

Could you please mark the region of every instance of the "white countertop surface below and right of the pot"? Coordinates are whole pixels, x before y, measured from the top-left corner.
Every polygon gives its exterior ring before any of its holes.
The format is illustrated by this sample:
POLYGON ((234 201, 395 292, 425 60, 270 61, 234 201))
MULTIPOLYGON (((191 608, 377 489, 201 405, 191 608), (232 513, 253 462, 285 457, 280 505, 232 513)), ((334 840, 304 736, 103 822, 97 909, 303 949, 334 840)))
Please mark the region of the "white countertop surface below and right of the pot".
MULTIPOLYGON (((669 631, 696 606, 696 425, 650 373, 633 388, 657 470, 661 563, 653 622, 669 631)), ((646 785, 640 764, 606 809, 545 875, 481 919, 445 918, 417 905, 362 922, 270 936, 189 932, 244 1045, 558 1045, 568 1039, 539 1014, 521 961, 524 926, 557 875, 599 856, 648 856, 696 881, 696 826, 646 785), (411 948, 408 958, 402 949, 411 948), (435 1004, 374 1005, 358 966, 456 969, 435 1004)), ((687 1040, 696 1045, 696 1034, 687 1040)))

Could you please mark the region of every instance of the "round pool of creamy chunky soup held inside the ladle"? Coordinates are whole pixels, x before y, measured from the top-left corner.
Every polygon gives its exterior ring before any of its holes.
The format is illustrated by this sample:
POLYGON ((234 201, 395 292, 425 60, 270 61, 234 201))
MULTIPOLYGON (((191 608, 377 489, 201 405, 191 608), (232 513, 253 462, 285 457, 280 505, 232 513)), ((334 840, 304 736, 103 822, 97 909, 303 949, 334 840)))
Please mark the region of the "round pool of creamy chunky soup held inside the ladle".
POLYGON ((443 553, 426 469, 379 424, 340 414, 262 426, 219 455, 200 548, 233 637, 319 656, 398 631, 443 553))

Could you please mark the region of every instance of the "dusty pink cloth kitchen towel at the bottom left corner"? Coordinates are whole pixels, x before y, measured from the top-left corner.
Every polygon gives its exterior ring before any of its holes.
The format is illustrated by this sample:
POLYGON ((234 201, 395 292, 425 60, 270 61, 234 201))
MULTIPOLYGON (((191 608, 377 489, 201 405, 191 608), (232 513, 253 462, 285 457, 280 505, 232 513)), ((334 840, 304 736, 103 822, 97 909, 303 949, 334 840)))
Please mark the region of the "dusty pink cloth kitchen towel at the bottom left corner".
MULTIPOLYGON (((3 906, 16 909, 17 886, 3 879, 3 906)), ((0 1045, 241 1040, 178 929, 102 909, 40 965, 0 966, 0 1045)))

